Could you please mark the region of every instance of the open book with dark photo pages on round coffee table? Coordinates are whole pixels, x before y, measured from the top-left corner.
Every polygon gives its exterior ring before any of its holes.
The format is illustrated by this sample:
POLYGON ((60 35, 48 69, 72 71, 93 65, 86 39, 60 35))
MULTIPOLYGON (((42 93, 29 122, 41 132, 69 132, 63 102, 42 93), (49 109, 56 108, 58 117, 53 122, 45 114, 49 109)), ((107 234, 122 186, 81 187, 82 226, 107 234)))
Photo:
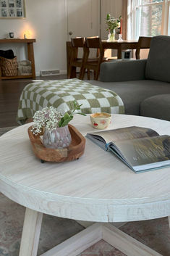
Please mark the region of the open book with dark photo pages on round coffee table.
POLYGON ((159 136, 150 128, 132 126, 86 136, 114 152, 135 173, 170 166, 170 136, 159 136))

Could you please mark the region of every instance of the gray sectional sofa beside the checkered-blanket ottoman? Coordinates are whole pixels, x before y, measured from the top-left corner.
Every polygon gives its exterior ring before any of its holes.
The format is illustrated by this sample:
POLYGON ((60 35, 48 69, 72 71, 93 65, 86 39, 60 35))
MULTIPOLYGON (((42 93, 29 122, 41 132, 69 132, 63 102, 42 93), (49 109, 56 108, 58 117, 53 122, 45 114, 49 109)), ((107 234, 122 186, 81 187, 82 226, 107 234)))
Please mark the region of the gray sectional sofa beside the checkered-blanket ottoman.
POLYGON ((119 94, 128 115, 170 120, 170 36, 152 38, 148 59, 103 63, 90 83, 119 94))

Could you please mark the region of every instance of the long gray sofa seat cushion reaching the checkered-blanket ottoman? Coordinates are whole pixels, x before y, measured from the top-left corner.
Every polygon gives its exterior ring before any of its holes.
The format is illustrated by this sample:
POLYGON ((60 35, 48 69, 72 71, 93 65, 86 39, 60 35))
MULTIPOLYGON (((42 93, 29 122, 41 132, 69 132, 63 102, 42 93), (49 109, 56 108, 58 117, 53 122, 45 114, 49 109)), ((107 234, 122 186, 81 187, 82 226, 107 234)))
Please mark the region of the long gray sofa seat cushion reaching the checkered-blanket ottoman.
POLYGON ((115 91, 124 102, 125 114, 140 115, 140 103, 150 96, 170 94, 170 84, 156 80, 135 80, 127 82, 110 82, 90 80, 94 86, 115 91))

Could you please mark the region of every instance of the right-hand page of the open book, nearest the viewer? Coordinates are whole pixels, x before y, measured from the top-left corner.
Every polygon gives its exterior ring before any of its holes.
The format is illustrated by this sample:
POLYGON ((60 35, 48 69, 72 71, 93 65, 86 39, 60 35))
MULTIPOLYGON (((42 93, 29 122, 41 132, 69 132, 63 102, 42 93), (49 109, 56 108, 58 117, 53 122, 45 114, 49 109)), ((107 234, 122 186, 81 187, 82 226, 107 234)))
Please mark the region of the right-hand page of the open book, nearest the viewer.
POLYGON ((170 136, 167 135, 116 141, 115 146, 133 168, 170 160, 170 136))

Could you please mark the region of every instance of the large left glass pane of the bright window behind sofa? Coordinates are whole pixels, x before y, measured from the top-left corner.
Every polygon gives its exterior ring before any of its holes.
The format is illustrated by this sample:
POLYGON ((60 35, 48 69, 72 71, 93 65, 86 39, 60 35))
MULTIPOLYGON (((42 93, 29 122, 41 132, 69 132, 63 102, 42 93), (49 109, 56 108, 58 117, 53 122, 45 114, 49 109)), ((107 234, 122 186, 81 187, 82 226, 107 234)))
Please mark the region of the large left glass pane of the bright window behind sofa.
MULTIPOLYGON (((147 1, 147 0, 145 0, 147 1)), ((162 4, 137 8, 136 39, 139 36, 158 36, 161 34, 162 4)))

